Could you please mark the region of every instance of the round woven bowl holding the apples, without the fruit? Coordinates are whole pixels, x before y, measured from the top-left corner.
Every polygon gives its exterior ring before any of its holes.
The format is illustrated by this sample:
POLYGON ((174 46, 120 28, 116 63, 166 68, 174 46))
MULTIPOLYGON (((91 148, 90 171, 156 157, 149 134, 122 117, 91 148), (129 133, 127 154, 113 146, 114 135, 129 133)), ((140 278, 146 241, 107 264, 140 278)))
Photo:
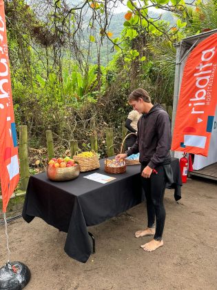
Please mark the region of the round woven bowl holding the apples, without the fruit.
POLYGON ((47 167, 48 178, 52 181, 67 181, 74 180, 80 174, 80 166, 72 167, 47 167))

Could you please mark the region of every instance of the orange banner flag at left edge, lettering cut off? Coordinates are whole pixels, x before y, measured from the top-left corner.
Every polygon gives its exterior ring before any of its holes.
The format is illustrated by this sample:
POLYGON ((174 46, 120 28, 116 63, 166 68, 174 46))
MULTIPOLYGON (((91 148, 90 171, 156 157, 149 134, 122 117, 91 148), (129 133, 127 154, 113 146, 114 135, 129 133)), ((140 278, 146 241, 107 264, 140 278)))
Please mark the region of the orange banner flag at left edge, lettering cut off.
POLYGON ((19 160, 3 0, 0 0, 0 181, 3 213, 6 213, 10 196, 19 182, 19 160))

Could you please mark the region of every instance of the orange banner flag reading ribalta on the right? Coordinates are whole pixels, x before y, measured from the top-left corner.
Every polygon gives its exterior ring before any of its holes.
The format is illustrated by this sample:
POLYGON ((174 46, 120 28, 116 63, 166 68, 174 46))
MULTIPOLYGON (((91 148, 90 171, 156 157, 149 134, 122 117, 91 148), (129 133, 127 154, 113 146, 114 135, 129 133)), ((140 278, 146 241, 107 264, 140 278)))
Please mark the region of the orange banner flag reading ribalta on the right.
POLYGON ((183 72, 172 150, 207 156, 217 104, 217 33, 190 53, 183 72))

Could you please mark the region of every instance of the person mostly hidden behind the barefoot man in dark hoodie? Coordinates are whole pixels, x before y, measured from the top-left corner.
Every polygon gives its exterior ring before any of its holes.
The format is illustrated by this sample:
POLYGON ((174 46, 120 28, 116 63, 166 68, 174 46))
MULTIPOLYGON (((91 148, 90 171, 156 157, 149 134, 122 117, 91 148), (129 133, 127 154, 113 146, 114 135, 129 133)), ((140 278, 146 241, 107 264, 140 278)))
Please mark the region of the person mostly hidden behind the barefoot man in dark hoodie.
MULTIPOLYGON (((137 133, 137 123, 138 123, 138 119, 141 117, 142 114, 138 113, 137 110, 132 110, 125 122, 125 127, 128 129, 128 131, 130 131, 130 133, 137 133)), ((130 149, 130 147, 132 147, 134 145, 134 143, 136 142, 136 135, 131 134, 130 136, 128 136, 125 140, 125 149, 128 150, 130 149)))

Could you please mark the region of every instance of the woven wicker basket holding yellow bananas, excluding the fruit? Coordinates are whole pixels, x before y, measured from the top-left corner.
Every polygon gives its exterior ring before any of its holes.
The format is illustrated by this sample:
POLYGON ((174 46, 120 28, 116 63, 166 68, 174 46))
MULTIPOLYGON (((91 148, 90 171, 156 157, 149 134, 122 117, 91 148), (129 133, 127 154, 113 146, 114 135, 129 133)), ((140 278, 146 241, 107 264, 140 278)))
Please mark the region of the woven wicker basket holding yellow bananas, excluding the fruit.
MULTIPOLYGON (((74 161, 79 163, 81 172, 92 171, 100 167, 98 155, 95 151, 92 151, 92 153, 94 153, 93 157, 80 157, 77 155, 73 156, 74 161)), ((75 154, 78 154, 78 152, 75 154)))

